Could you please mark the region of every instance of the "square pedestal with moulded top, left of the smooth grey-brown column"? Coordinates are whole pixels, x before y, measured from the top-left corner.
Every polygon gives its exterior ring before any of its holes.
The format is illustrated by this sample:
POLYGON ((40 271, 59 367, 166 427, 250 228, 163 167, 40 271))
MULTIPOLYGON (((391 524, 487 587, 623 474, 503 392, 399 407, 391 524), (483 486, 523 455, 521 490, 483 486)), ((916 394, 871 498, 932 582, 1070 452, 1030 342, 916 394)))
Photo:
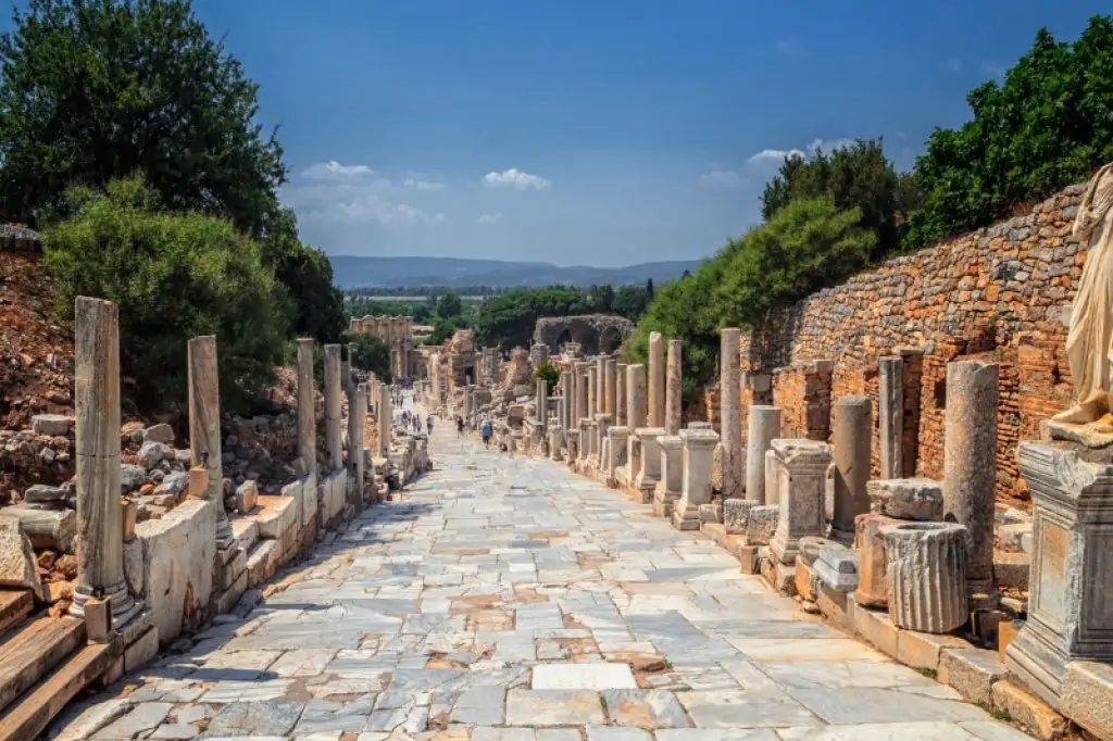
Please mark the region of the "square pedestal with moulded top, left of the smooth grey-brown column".
POLYGON ((781 564, 791 564, 797 542, 807 535, 824 536, 824 492, 831 452, 827 443, 811 439, 775 439, 780 482, 780 515, 769 551, 781 564))

